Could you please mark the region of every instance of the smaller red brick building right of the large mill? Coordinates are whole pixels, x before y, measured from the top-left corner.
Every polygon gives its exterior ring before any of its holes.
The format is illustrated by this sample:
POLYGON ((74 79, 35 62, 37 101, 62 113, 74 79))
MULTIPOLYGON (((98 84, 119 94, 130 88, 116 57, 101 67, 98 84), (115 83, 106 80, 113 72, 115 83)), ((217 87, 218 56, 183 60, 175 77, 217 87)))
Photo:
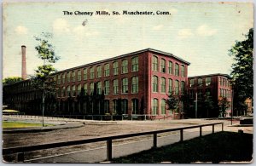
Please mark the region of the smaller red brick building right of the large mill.
POLYGON ((189 77, 188 117, 195 117, 195 102, 197 102, 197 117, 218 117, 218 100, 221 98, 226 98, 230 104, 224 116, 231 116, 232 89, 230 78, 229 75, 220 73, 189 77), (214 108, 211 110, 206 108, 206 98, 213 101, 214 108))

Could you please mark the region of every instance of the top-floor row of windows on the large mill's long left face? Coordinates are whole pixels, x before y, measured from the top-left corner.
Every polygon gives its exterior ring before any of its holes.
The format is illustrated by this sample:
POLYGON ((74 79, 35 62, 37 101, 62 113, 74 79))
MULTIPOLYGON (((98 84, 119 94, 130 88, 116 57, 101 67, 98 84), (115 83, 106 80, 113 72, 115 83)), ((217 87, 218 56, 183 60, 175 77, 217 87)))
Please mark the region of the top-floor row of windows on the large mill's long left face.
MULTIPOLYGON (((110 76, 110 67, 109 64, 105 64, 103 66, 103 76, 108 77, 110 76)), ((119 63, 118 61, 113 62, 113 76, 119 74, 119 63)), ((135 56, 131 58, 131 72, 138 72, 138 56, 135 56)), ((128 60, 122 60, 121 61, 121 73, 125 74, 128 73, 128 60)), ((83 80, 89 79, 94 79, 102 77, 102 66, 96 66, 96 73, 95 73, 95 67, 92 66, 90 68, 84 68, 83 73, 81 70, 79 70, 77 73, 76 72, 67 72, 66 73, 60 74, 57 76, 57 84, 61 83, 70 83, 70 82, 76 82, 76 81, 81 81, 82 80, 82 74, 83 74, 83 80), (67 78, 66 78, 67 77, 67 78)))

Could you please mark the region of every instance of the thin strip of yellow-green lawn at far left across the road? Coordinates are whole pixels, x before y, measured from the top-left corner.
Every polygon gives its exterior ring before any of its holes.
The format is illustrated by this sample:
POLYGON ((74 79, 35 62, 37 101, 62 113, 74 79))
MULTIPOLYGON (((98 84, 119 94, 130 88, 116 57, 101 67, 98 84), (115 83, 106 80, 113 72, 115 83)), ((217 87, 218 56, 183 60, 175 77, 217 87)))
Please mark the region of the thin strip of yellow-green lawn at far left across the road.
MULTIPOLYGON (((42 123, 22 123, 22 122, 3 122, 3 128, 29 128, 42 127, 42 123)), ((53 124, 44 124, 44 126, 53 126, 53 124)))

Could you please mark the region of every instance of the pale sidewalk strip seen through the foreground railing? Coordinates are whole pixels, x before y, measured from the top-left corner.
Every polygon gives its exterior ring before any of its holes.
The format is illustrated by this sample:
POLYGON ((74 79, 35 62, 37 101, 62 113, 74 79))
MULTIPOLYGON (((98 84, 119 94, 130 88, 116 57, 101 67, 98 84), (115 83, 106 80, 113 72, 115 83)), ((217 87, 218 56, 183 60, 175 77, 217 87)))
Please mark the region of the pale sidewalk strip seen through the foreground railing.
MULTIPOLYGON (((202 135, 208 135, 212 133, 210 131, 212 127, 206 127, 206 130, 202 132, 202 135)), ((189 140, 199 136, 199 131, 196 129, 191 129, 191 131, 184 131, 183 140, 189 140)), ((215 130, 220 131, 220 129, 215 130)), ((166 146, 178 142, 180 140, 180 135, 168 135, 158 137, 157 146, 166 146)), ((136 142, 125 143, 121 145, 113 145, 113 157, 122 157, 130 155, 136 152, 142 152, 152 148, 153 140, 141 140, 136 142)), ((91 149, 80 152, 72 152, 68 154, 63 154, 59 156, 44 157, 29 160, 26 162, 31 163, 99 163, 107 159, 107 148, 103 146, 97 149, 91 149)))

